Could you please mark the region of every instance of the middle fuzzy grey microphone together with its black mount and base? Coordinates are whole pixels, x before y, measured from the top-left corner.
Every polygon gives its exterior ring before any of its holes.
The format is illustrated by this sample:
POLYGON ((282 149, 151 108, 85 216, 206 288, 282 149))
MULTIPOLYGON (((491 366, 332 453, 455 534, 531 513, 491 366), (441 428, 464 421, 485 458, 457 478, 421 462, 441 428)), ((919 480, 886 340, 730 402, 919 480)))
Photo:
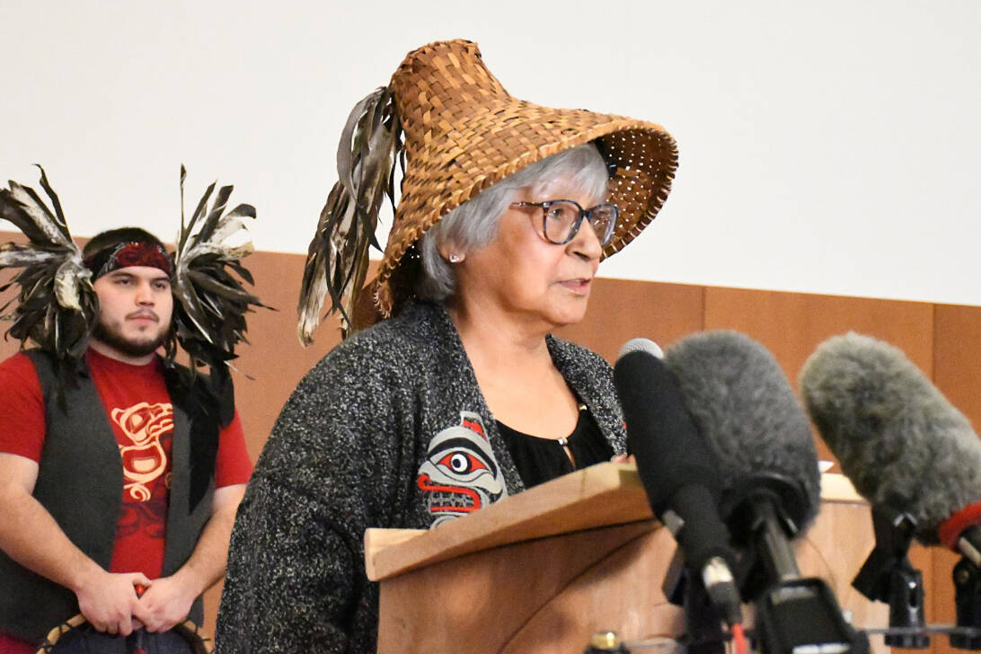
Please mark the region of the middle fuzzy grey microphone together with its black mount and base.
POLYGON ((756 601, 763 651, 866 652, 828 584, 800 576, 790 539, 817 515, 820 474, 807 417, 773 355, 718 330, 682 339, 665 364, 719 464, 720 509, 746 548, 740 587, 756 601))

